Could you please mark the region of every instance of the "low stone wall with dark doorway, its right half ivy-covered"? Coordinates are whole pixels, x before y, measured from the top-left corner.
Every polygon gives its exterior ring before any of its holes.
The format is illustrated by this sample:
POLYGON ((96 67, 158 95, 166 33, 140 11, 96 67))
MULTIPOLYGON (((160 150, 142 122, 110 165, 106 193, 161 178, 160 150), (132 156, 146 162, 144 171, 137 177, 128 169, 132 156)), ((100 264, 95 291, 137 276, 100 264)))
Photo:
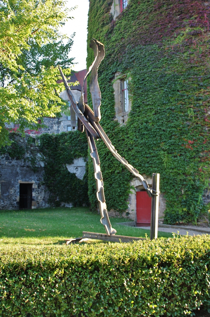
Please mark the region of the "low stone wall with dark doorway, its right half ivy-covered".
POLYGON ((42 134, 32 138, 10 133, 10 146, 0 147, 0 209, 19 208, 19 183, 31 182, 32 209, 89 205, 87 171, 83 179, 66 164, 87 158, 85 133, 42 134))

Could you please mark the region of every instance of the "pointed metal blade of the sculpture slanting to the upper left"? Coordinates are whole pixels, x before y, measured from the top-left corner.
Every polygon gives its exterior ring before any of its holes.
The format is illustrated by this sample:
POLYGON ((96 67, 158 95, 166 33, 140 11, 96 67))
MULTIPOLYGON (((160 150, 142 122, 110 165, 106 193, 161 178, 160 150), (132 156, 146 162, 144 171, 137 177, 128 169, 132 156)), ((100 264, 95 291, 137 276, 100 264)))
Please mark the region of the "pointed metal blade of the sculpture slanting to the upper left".
POLYGON ((63 82, 64 82, 64 86, 66 88, 66 94, 69 98, 69 101, 71 102, 71 106, 74 110, 74 112, 76 113, 76 115, 78 116, 79 120, 82 121, 82 123, 84 124, 85 128, 91 133, 91 135, 95 138, 95 139, 99 139, 100 136, 98 135, 98 133, 96 132, 96 130, 92 127, 92 125, 90 124, 90 122, 84 117, 83 113, 79 110, 78 106, 77 106, 77 103, 74 99, 74 96, 72 95, 72 92, 71 92, 71 89, 69 88, 69 85, 67 83, 67 80, 60 68, 59 67, 59 71, 60 71, 60 74, 61 74, 61 77, 63 79, 63 82))

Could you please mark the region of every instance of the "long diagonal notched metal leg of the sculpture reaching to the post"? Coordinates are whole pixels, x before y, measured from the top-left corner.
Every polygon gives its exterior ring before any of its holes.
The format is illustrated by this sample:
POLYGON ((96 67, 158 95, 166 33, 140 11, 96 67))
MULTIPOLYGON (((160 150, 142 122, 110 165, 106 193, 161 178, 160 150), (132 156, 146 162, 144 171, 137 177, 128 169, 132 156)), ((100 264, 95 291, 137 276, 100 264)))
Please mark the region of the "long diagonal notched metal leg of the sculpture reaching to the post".
POLYGON ((130 165, 124 158, 122 158, 119 155, 119 153, 117 152, 117 150, 115 150, 114 146, 112 145, 112 142, 110 141, 110 139, 108 138, 108 136, 106 135, 106 133, 104 132, 104 130, 102 129, 100 124, 98 122, 94 121, 93 111, 86 104, 85 104, 85 113, 84 114, 88 117, 88 119, 91 122, 92 126, 97 131, 97 133, 100 135, 101 139, 104 141, 105 145, 107 146, 109 151, 112 153, 112 155, 120 163, 122 163, 127 168, 128 171, 130 171, 135 177, 137 177, 139 179, 139 181, 142 183, 142 185, 146 189, 146 192, 147 192, 148 196, 152 197, 151 189, 149 188, 149 185, 147 184, 146 179, 144 179, 143 176, 141 174, 139 174, 139 172, 132 165, 130 165))

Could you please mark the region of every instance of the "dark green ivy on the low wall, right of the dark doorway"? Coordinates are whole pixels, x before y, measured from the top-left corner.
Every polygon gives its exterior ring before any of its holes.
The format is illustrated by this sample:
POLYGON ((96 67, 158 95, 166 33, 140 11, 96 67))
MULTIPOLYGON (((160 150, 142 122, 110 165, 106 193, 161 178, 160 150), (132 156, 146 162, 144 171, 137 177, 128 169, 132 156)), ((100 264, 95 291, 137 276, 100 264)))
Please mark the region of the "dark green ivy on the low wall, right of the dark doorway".
POLYGON ((81 180, 70 173, 66 164, 72 164, 76 158, 87 157, 85 133, 63 132, 60 134, 42 134, 39 137, 39 150, 44 155, 44 184, 50 191, 49 202, 60 206, 72 203, 74 206, 87 205, 87 171, 81 180), (59 199, 57 199, 59 197, 59 199))

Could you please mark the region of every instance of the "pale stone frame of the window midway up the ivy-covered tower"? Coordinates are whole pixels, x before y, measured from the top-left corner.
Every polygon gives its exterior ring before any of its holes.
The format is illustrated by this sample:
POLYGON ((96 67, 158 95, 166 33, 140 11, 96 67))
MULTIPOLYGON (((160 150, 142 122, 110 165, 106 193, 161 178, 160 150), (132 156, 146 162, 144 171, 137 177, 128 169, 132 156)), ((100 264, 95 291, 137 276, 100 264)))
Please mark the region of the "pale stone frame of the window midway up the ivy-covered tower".
POLYGON ((116 73, 113 80, 113 89, 114 89, 114 101, 115 101, 115 116, 114 120, 118 121, 120 125, 124 125, 127 122, 128 114, 131 111, 131 94, 128 91, 128 110, 124 111, 123 102, 123 81, 131 81, 131 78, 127 74, 116 73))

